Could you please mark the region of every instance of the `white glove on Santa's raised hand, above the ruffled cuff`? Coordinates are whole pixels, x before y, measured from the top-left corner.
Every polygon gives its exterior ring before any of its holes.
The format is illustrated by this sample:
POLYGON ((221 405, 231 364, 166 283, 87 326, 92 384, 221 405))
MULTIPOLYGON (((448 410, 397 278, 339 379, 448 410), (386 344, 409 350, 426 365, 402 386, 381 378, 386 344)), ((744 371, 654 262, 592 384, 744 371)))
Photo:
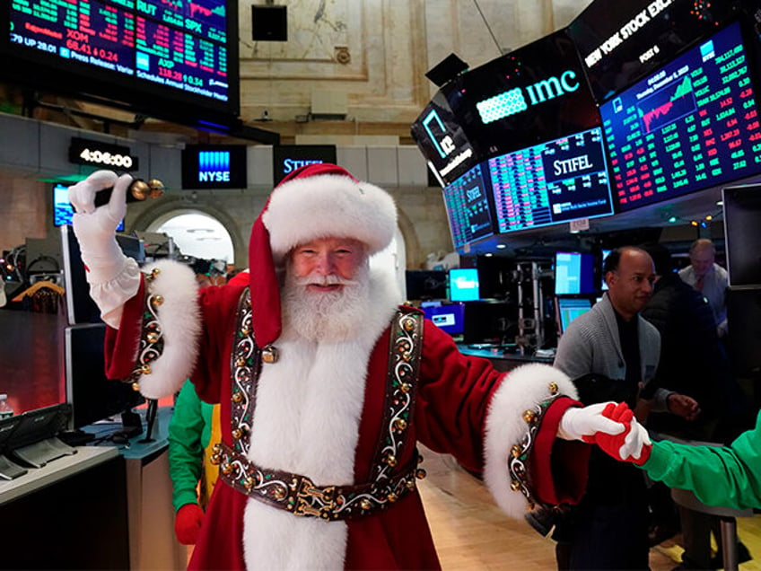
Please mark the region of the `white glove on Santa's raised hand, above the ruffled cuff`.
POLYGON ((69 202, 74 206, 72 224, 82 251, 90 284, 103 284, 117 277, 127 261, 114 234, 127 214, 127 188, 132 177, 117 177, 112 171, 95 171, 69 188, 69 202), (114 187, 109 204, 95 207, 95 193, 114 187))

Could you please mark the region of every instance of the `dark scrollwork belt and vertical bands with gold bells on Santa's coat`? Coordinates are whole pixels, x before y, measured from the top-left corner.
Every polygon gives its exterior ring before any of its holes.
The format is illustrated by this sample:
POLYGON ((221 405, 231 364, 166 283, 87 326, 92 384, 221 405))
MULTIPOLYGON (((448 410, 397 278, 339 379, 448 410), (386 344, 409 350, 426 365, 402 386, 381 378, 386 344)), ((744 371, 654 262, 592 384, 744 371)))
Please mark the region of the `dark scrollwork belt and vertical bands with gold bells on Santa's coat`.
POLYGON ((262 353, 252 328, 249 288, 241 294, 232 351, 232 447, 214 444, 211 461, 220 465, 220 479, 246 496, 274 505, 294 515, 325 521, 356 519, 375 514, 415 490, 422 461, 414 453, 407 465, 395 470, 398 458, 410 442, 417 379, 423 350, 423 316, 399 308, 391 323, 386 411, 381 439, 372 464, 372 481, 354 486, 317 487, 300 474, 260 468, 248 458, 251 419, 254 414, 262 353), (396 472, 396 473, 394 473, 396 472))

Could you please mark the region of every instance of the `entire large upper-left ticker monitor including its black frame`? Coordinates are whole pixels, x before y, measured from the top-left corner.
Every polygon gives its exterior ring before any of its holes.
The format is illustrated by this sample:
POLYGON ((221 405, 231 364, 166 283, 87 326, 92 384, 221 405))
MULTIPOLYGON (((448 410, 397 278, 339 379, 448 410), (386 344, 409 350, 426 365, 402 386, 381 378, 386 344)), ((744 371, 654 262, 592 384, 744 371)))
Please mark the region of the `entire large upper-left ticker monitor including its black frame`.
POLYGON ((203 124, 240 115, 237 0, 23 0, 0 9, 0 74, 203 124))

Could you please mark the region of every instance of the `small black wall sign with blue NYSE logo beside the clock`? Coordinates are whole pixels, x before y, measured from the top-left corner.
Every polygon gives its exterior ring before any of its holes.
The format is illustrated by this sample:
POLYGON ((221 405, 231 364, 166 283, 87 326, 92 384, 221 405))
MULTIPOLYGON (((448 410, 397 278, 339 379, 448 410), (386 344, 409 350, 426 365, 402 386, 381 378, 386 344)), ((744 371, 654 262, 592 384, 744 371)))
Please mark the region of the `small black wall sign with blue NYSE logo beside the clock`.
POLYGON ((182 151, 183 189, 245 189, 245 145, 186 145, 182 151))

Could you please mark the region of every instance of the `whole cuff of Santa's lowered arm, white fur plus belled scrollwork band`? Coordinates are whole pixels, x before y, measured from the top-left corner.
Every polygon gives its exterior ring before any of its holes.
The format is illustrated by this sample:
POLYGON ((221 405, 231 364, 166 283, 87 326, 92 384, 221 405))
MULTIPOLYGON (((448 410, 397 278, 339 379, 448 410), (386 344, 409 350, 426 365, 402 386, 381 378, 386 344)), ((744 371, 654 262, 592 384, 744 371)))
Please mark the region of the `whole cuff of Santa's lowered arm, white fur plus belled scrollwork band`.
POLYGON ((549 365, 522 365, 503 376, 489 404, 484 481, 511 517, 522 519, 538 504, 529 458, 547 407, 559 396, 576 397, 567 375, 549 365))

